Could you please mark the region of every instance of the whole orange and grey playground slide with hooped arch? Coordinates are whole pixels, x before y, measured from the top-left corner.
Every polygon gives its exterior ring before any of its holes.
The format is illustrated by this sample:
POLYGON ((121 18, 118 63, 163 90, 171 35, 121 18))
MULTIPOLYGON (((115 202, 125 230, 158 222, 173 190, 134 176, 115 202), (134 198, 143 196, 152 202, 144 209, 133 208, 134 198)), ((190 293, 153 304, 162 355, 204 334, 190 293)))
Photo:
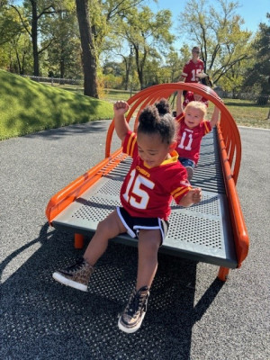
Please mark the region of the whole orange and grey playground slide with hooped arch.
MULTIPOLYGON (((202 188, 202 202, 190 208, 172 204, 170 227, 160 252, 220 266, 218 277, 226 281, 229 269, 238 268, 247 257, 249 239, 241 211, 236 184, 241 160, 241 141, 236 122, 210 87, 171 83, 154 85, 130 97, 127 121, 135 118, 147 104, 169 98, 177 90, 201 94, 220 108, 216 129, 202 139, 201 156, 191 184, 202 188)), ((121 148, 111 153, 114 122, 107 132, 105 157, 96 166, 56 193, 47 205, 49 224, 74 233, 75 247, 94 232, 120 203, 120 188, 130 168, 130 157, 121 148)), ((137 246, 137 239, 121 234, 117 241, 137 246)))

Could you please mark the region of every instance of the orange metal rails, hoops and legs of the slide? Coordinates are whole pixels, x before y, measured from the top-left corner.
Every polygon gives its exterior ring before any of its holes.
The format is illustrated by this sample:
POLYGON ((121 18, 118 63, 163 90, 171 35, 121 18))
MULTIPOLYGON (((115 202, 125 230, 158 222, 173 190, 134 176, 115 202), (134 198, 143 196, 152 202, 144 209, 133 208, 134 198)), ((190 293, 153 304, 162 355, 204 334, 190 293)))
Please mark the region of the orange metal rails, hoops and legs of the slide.
MULTIPOLYGON (((249 239, 243 213, 241 211, 236 184, 241 161, 241 140, 236 122, 232 118, 229 110, 220 101, 219 96, 210 87, 199 84, 170 83, 150 86, 147 89, 134 94, 128 100, 130 111, 127 114, 127 121, 135 116, 134 130, 137 129, 139 112, 147 104, 156 103, 158 99, 169 98, 177 90, 193 91, 201 94, 214 103, 220 109, 220 122, 217 125, 218 139, 220 145, 220 158, 222 172, 226 187, 226 194, 229 203, 229 216, 231 220, 235 247, 238 255, 238 267, 241 266, 247 257, 249 239)), ((112 120, 107 132, 105 144, 105 158, 99 164, 88 170, 84 175, 79 176, 74 182, 67 185, 63 190, 55 194, 49 201, 46 215, 51 221, 63 211, 71 202, 92 186, 100 177, 108 174, 113 167, 117 166, 124 155, 121 155, 121 148, 111 154, 112 135, 114 131, 114 121, 112 120)), ((82 246, 82 236, 76 234, 76 247, 82 246)), ((229 274, 229 268, 221 267, 219 271, 220 280, 225 281, 229 274)))

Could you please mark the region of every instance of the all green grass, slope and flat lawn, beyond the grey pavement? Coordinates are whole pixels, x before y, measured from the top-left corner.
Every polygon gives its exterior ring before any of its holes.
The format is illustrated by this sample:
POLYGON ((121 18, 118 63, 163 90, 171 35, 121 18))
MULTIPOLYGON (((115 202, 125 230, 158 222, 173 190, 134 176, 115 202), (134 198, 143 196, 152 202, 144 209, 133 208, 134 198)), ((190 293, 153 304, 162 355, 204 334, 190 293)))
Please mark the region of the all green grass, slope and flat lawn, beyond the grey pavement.
MULTIPOLYGON (((130 98, 130 91, 106 89, 102 99, 97 100, 84 96, 82 86, 40 84, 3 70, 0 82, 0 139, 112 119, 112 103, 130 98)), ((270 120, 266 119, 269 105, 232 99, 224 99, 224 103, 238 125, 270 129, 270 120)), ((211 111, 212 105, 209 116, 211 111)))

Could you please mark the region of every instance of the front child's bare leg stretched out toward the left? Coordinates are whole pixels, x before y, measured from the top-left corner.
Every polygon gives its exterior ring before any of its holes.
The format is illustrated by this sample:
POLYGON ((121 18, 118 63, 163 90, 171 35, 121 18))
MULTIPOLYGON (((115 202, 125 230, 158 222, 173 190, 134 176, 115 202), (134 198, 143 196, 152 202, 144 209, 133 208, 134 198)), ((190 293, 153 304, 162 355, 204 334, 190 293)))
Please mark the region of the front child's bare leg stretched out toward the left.
POLYGON ((126 229, 122 225, 117 211, 114 210, 104 220, 99 222, 94 237, 85 250, 84 258, 87 263, 94 266, 108 247, 109 239, 114 238, 122 232, 126 232, 126 229))

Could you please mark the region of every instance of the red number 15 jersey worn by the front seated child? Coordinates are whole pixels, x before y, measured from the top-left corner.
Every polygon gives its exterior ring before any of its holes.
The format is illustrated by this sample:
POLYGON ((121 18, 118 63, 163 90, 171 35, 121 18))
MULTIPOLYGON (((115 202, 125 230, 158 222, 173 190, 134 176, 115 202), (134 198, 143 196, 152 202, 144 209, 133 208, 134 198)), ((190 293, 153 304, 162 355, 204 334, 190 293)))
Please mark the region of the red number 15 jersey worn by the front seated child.
POLYGON ((167 220, 173 198, 179 203, 191 189, 177 152, 174 150, 161 165, 149 167, 139 157, 137 135, 131 131, 123 141, 122 151, 133 158, 121 186, 122 206, 130 216, 167 220))

